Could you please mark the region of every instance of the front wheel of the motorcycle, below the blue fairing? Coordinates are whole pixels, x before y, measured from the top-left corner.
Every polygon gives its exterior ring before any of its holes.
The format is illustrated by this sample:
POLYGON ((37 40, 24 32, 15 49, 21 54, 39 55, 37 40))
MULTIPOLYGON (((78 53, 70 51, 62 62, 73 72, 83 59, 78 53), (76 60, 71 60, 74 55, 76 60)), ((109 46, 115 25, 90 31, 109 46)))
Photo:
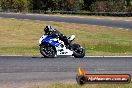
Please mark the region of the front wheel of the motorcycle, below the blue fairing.
POLYGON ((56 51, 50 44, 43 44, 40 46, 40 53, 46 58, 55 57, 56 51))

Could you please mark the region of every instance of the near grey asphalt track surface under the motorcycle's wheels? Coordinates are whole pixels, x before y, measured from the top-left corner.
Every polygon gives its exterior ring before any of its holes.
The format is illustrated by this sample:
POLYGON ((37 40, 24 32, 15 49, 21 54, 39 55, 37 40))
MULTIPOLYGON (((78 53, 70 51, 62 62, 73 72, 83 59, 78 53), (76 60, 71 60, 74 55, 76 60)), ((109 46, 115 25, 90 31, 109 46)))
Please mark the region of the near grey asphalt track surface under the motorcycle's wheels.
POLYGON ((132 75, 132 57, 42 58, 1 56, 0 83, 75 80, 78 66, 87 73, 132 75))

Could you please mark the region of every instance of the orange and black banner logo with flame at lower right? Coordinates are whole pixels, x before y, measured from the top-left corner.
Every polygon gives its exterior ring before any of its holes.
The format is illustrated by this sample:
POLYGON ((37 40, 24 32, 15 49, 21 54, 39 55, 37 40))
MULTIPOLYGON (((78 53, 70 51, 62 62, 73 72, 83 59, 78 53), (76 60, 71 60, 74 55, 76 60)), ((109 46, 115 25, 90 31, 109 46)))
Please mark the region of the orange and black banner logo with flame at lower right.
POLYGON ((86 74, 86 71, 79 67, 76 81, 80 85, 86 83, 130 83, 131 76, 129 74, 86 74))

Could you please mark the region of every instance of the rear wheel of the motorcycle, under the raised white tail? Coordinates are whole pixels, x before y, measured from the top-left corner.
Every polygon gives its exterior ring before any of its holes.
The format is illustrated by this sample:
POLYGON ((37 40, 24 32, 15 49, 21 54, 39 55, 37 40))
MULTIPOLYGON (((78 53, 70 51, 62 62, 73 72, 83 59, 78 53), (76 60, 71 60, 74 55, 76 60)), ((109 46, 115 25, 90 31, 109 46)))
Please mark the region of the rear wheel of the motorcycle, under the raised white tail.
POLYGON ((73 44, 73 56, 75 58, 83 58, 85 56, 85 49, 81 47, 79 44, 73 44))

